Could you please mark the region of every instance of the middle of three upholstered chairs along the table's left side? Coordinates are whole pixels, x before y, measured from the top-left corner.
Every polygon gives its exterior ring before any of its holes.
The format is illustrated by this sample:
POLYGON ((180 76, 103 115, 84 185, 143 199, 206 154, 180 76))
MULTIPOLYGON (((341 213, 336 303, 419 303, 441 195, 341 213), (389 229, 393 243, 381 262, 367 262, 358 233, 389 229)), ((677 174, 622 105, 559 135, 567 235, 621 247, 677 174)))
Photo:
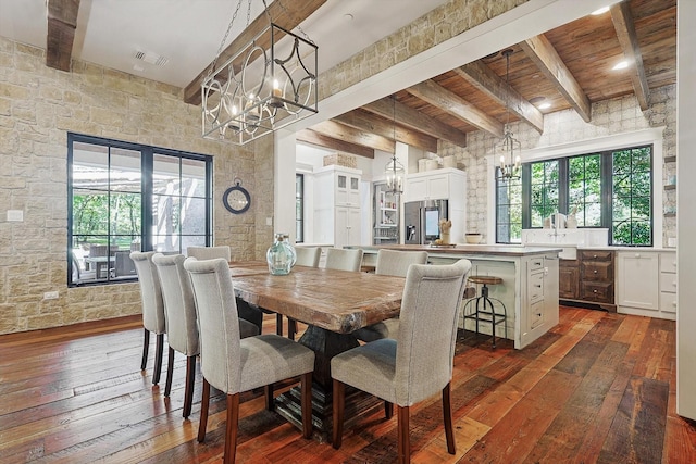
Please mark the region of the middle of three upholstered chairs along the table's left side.
MULTIPOLYGON (((164 313, 166 315, 166 341, 170 346, 164 397, 169 397, 172 391, 174 353, 178 351, 186 356, 184 417, 188 417, 194 402, 196 356, 199 354, 199 347, 194 290, 191 288, 191 279, 184 268, 184 260, 186 260, 186 256, 183 254, 164 255, 157 253, 152 256, 152 262, 157 266, 158 275, 160 276, 164 313)), ((259 334, 259 328, 247 321, 239 321, 239 334, 243 338, 251 337, 259 334)))

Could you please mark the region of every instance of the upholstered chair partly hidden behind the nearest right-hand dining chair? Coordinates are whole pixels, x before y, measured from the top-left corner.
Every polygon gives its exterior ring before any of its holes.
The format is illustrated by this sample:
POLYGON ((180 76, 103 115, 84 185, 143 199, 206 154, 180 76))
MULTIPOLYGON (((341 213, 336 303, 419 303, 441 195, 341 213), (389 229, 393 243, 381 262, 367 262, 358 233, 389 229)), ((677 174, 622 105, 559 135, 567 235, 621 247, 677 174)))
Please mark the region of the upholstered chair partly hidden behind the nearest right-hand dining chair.
MULTIPOLYGON (((427 263, 426 251, 397 251, 381 249, 374 273, 383 276, 406 277, 411 264, 427 263)), ((381 338, 396 338, 399 333, 399 318, 394 317, 356 330, 352 335, 362 341, 381 338)))

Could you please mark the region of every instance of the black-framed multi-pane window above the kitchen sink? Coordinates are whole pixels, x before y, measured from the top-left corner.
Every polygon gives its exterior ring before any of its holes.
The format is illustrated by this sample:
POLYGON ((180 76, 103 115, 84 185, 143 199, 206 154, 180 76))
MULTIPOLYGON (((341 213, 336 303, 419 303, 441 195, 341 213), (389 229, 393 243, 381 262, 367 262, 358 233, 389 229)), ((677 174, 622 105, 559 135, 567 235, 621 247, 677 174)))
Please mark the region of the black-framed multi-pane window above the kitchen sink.
POLYGON ((522 228, 561 212, 608 228, 610 244, 652 244, 652 146, 525 163, 517 180, 496 174, 498 243, 519 243, 522 228))

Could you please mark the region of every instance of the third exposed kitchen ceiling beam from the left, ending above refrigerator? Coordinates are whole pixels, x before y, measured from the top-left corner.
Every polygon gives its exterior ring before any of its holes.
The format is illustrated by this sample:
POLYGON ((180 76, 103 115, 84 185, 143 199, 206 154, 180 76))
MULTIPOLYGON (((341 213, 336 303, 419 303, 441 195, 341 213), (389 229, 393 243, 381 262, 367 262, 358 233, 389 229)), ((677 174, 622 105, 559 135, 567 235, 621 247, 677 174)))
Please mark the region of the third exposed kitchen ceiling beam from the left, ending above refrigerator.
POLYGON ((396 139, 396 141, 400 141, 401 143, 418 147, 432 153, 437 153, 437 139, 435 137, 409 127, 402 127, 395 124, 393 120, 385 120, 364 110, 358 109, 349 111, 348 113, 334 117, 332 121, 391 140, 396 139))

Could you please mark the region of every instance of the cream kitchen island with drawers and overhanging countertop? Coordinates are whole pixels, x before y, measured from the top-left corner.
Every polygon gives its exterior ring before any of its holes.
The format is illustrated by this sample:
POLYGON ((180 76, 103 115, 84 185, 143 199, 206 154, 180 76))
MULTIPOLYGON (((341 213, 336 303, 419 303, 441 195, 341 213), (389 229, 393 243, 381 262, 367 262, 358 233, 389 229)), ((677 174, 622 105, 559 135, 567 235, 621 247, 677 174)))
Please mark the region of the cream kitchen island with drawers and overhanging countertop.
MULTIPOLYGON (((471 261, 471 275, 502 278, 502 285, 489 287, 489 296, 507 308, 507 336, 521 349, 558 324, 558 253, 554 247, 518 246, 347 246, 364 252, 363 266, 374 266, 382 248, 400 251, 426 251, 430 264, 450 264, 465 258, 471 261)), ((480 289, 476 289, 476 294, 480 289)), ((471 330, 472 321, 460 314, 459 327, 471 330)), ((490 334, 489 323, 481 322, 478 330, 490 334)), ((496 336, 505 337, 505 327, 496 327, 496 336)))

